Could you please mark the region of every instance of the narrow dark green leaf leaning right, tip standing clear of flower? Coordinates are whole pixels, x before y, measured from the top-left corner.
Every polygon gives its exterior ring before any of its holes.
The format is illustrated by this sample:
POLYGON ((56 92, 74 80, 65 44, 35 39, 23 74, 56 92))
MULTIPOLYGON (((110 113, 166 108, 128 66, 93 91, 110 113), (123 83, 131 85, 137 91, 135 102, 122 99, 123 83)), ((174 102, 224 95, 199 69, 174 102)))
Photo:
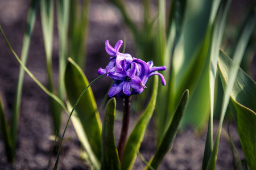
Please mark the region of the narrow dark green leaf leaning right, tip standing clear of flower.
MULTIPOLYGON (((154 158, 152 158, 152 161, 150 163, 151 167, 154 169, 157 169, 159 167, 164 156, 167 154, 167 152, 170 150, 172 146, 172 142, 174 141, 174 138, 177 134, 181 118, 184 115, 185 107, 187 106, 188 103, 188 98, 188 90, 185 90, 185 92, 181 96, 179 105, 174 114, 174 118, 170 126, 168 127, 166 133, 164 134, 163 141, 161 142, 158 151, 156 151, 156 154, 154 155, 154 158)), ((148 167, 146 169, 148 169, 148 167)))

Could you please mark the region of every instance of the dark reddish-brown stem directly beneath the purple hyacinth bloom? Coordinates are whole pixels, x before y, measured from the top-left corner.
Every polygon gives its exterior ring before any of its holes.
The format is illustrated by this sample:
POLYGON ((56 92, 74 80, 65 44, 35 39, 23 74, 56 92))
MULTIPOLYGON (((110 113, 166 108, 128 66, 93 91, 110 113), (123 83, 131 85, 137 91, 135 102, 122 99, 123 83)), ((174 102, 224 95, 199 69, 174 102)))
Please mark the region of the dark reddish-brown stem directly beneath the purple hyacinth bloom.
POLYGON ((119 156, 120 162, 122 162, 123 151, 125 150, 125 143, 126 143, 127 133, 129 129, 130 111, 131 111, 131 96, 125 96, 125 99, 123 99, 123 126, 121 131, 121 137, 118 144, 118 156, 119 156))

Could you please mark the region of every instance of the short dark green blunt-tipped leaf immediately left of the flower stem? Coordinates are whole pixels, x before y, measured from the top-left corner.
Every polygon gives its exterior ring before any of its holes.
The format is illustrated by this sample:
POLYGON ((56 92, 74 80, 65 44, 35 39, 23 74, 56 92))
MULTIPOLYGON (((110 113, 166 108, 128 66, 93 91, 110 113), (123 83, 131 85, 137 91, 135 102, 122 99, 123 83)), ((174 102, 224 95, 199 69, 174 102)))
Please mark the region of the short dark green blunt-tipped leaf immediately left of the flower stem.
POLYGON ((102 125, 101 169, 121 169, 114 137, 115 98, 109 100, 105 108, 102 125))

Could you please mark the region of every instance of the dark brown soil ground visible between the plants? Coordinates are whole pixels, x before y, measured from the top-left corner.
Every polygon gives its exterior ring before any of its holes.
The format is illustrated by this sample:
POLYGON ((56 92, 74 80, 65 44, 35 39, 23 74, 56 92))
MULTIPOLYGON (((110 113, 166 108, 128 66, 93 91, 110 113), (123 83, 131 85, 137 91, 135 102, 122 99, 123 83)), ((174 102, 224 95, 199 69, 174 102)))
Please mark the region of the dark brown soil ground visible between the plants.
MULTIPOLYGON (((237 2, 237 1, 235 1, 237 2)), ((134 1, 135 3, 135 1, 134 1)), ((28 0, 5 1, 0 0, 0 24, 10 41, 15 52, 20 56, 24 25, 26 23, 28 0)), ((232 6, 236 10, 236 4, 232 6)), ((230 10, 231 11, 231 10, 230 10)), ((238 12, 242 13, 243 8, 238 7, 238 12)), ((108 62, 108 54, 105 52, 105 40, 110 40, 114 44, 119 39, 126 37, 126 51, 135 55, 135 46, 127 28, 122 25, 121 17, 114 15, 118 11, 109 3, 104 1, 93 1, 90 10, 90 25, 88 35, 88 52, 86 59, 85 74, 89 82, 95 79, 99 67, 103 67, 108 62), (109 15, 110 17, 106 17, 109 15)), ((234 14, 236 12, 233 12, 234 14)), ((232 14, 233 14, 232 13, 232 14)), ((230 14, 230 15, 232 15, 230 14)), ((240 16, 239 16, 240 17, 240 16)), ((238 18, 239 18, 238 17, 238 18)), ((234 21, 237 22, 237 21, 234 21)), ((34 33, 31 39, 30 52, 28 54, 27 67, 46 86, 46 66, 44 58, 44 45, 42 36, 42 25, 38 13, 34 33)), ((0 92, 5 100, 5 112, 8 120, 11 118, 13 101, 18 81, 19 64, 15 60, 10 49, 0 35, 0 92)), ((255 61, 254 61, 255 63, 255 61)), ((58 40, 57 28, 55 24, 55 37, 53 40, 53 72, 57 79, 58 71, 58 40)), ((254 71, 255 73, 255 71, 254 71)), ((255 78, 254 78, 255 79, 255 78)), ((102 78, 92 86, 97 104, 100 105, 111 80, 102 78), (104 83, 102 83, 104 82, 104 83)), ((117 101, 121 109, 122 101, 117 101)), ((103 112, 100 113, 101 118, 103 112)), ((138 115, 132 114, 130 129, 138 115)), ((67 114, 63 113, 63 126, 67 122, 67 114)), ((218 122, 214 122, 214 136, 217 131, 218 122)), ((115 134, 119 138, 121 121, 116 120, 115 134)), ((223 129, 226 131, 225 122, 223 129)), ((231 136, 241 159, 244 159, 240 139, 237 134, 234 122, 230 125, 231 136)), ((141 146, 141 153, 147 160, 155 152, 154 146, 154 126, 151 122, 141 146)), ((18 147, 16 150, 16 162, 11 165, 5 157, 5 150, 2 136, 0 136, 0 169, 46 169, 53 141, 49 137, 53 135, 51 115, 49 114, 48 96, 33 82, 26 74, 24 76, 24 86, 22 94, 22 105, 19 117, 18 147)), ((159 169, 201 169, 203 160, 206 131, 201 134, 195 133, 192 128, 187 128, 177 134, 172 150, 166 155, 159 169)), ((72 123, 69 124, 63 143, 63 152, 59 159, 59 169, 90 169, 85 161, 81 159, 81 145, 77 138, 72 123)), ((52 157, 50 169, 56 160, 56 154, 52 157)), ((234 169, 233 156, 230 145, 222 135, 218 151, 216 169, 234 169)), ((144 163, 137 158, 133 169, 143 169, 144 163)))

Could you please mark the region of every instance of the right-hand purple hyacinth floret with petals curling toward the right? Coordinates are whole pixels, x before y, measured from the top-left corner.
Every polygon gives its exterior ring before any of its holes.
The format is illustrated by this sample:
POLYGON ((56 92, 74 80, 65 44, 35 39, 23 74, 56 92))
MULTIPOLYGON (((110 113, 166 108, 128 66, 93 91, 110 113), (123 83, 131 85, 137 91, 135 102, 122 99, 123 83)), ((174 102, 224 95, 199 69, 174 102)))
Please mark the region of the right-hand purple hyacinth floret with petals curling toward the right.
MULTIPOLYGON (((134 58, 134 62, 137 63, 137 75, 141 78, 142 83, 146 84, 148 78, 152 75, 159 75, 162 81, 163 86, 166 86, 166 80, 164 76, 155 71, 164 71, 166 70, 166 66, 162 67, 153 67, 153 61, 148 61, 147 63, 141 59, 134 58)), ((133 94, 141 94, 144 89, 135 89, 133 90, 133 94)))

